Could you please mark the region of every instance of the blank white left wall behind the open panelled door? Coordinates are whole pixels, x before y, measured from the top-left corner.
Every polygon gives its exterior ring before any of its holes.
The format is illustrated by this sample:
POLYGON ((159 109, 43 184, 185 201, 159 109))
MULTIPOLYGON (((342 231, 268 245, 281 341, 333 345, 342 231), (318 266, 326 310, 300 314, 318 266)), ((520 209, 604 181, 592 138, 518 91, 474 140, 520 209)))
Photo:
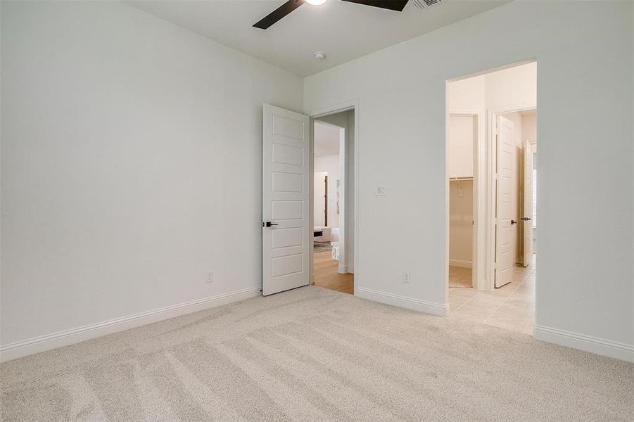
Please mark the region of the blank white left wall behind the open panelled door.
POLYGON ((302 81, 118 2, 1 7, 2 344, 258 295, 262 103, 302 81))

